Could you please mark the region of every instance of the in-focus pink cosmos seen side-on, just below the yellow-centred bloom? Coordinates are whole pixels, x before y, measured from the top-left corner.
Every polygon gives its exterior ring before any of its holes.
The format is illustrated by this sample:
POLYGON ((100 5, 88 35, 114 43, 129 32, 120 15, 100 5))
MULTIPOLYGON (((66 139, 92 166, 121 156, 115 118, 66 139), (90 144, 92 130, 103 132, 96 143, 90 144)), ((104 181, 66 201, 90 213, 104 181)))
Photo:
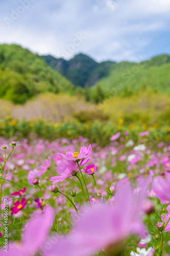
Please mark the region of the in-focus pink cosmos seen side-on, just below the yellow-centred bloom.
MULTIPOLYGON (((86 164, 89 159, 90 158, 87 158, 85 160, 82 159, 79 165, 82 166, 86 164)), ((57 169, 57 173, 59 174, 59 176, 52 177, 50 180, 53 181, 53 184, 55 184, 69 178, 70 176, 74 176, 78 172, 80 172, 80 170, 77 162, 68 160, 67 164, 61 164, 57 169)))

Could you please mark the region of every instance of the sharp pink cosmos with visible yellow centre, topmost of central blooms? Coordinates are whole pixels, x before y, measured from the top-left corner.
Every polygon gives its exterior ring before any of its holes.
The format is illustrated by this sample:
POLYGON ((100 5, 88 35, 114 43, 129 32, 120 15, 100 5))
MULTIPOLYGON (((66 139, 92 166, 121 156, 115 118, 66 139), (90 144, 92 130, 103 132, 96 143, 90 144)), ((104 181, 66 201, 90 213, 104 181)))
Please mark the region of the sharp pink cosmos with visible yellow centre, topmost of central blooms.
POLYGON ((81 159, 84 159, 88 157, 91 153, 91 144, 87 148, 86 146, 82 146, 79 152, 72 153, 70 151, 66 152, 66 155, 58 153, 58 155, 66 160, 72 160, 72 161, 80 161, 81 159))

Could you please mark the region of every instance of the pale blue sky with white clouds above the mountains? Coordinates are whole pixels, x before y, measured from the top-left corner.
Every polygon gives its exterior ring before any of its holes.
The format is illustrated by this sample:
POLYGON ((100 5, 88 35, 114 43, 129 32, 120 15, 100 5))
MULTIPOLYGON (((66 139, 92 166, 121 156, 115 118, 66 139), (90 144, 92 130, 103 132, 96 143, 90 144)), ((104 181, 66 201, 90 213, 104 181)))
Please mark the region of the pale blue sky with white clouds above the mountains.
POLYGON ((170 54, 169 13, 169 0, 0 0, 0 44, 140 61, 170 54))

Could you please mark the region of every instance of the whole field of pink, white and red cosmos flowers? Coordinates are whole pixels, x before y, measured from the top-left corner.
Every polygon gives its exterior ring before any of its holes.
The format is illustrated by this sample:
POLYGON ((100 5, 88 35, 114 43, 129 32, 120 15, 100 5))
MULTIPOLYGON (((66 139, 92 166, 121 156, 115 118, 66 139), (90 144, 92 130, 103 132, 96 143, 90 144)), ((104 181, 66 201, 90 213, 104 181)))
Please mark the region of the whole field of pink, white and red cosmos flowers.
POLYGON ((169 254, 170 145, 149 134, 1 138, 0 256, 169 254))

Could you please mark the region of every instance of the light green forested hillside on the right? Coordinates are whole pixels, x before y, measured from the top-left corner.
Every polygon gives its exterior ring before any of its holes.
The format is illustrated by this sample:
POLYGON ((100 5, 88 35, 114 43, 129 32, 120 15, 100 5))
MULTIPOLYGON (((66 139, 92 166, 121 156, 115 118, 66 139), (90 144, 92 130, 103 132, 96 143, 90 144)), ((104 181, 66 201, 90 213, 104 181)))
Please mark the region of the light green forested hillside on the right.
POLYGON ((170 56, 160 55, 140 63, 120 62, 112 68, 109 76, 91 88, 95 98, 100 87, 105 97, 129 96, 140 90, 170 93, 170 56))

